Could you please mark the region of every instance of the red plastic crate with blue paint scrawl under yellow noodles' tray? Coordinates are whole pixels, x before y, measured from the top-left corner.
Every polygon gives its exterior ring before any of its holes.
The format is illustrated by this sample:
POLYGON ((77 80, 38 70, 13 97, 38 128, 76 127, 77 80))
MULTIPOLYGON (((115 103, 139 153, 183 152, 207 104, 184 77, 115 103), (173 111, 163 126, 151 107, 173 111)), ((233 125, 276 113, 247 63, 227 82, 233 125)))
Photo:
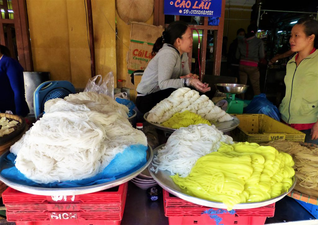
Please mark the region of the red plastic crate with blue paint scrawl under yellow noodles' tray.
POLYGON ((169 224, 211 224, 211 225, 263 225, 266 217, 274 216, 275 203, 251 209, 209 208, 185 201, 163 190, 164 215, 169 217, 169 224))

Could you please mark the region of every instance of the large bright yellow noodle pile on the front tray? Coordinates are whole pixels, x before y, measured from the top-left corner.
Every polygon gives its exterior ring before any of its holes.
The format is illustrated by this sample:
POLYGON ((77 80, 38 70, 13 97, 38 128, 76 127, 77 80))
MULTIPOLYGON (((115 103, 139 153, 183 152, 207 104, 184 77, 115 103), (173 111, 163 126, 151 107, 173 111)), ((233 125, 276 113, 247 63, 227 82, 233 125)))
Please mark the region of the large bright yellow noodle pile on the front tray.
POLYGON ((276 197, 292 186, 293 159, 270 146, 223 144, 197 160, 187 177, 171 176, 189 195, 223 202, 227 210, 243 202, 276 197))

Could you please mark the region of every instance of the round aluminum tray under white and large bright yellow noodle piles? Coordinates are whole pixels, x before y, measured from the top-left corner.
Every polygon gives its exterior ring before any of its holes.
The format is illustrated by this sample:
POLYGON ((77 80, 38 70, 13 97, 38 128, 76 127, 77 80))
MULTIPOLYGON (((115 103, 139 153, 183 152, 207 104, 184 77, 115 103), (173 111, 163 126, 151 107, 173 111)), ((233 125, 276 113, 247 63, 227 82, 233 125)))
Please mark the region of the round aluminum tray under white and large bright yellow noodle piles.
MULTIPOLYGON (((161 149, 163 146, 164 146, 164 144, 162 144, 162 145, 158 146, 156 149, 154 149, 154 156, 157 155, 158 149, 161 149)), ((222 202, 213 202, 213 201, 193 197, 191 195, 186 194, 186 191, 184 189, 181 189, 178 185, 176 185, 172 181, 172 179, 169 177, 171 175, 171 173, 168 170, 162 171, 159 169, 157 173, 154 173, 150 170, 151 167, 152 167, 152 164, 149 164, 148 169, 149 169, 151 176, 163 189, 165 189, 169 193, 171 193, 171 194, 173 194, 173 195, 175 195, 183 200, 186 200, 188 202, 192 202, 192 203, 195 203, 198 205, 203 205, 203 206, 212 207, 212 208, 227 208, 226 205, 222 202)), ((288 191, 275 197, 275 198, 271 198, 271 199, 261 201, 261 202, 239 203, 239 204, 234 205, 233 209, 257 208, 257 207, 262 207, 262 206, 266 206, 266 205, 272 204, 274 202, 277 202, 278 200, 285 197, 285 195, 287 195, 291 190, 293 190, 294 186, 296 185, 296 177, 295 176, 294 176, 293 180, 294 180, 294 182, 293 182, 292 186, 288 189, 288 191)))

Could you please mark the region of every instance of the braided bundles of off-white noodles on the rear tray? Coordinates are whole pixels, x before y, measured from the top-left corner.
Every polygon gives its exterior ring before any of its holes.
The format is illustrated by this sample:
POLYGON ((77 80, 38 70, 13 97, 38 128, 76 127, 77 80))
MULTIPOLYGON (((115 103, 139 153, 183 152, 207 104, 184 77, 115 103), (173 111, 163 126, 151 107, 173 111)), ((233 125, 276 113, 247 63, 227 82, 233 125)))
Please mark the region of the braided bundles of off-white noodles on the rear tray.
POLYGON ((147 119, 150 122, 163 123, 175 113, 186 110, 196 113, 210 122, 225 122, 233 119, 230 114, 215 106, 208 96, 200 96, 199 92, 190 88, 179 88, 172 92, 168 98, 157 103, 149 111, 147 119))

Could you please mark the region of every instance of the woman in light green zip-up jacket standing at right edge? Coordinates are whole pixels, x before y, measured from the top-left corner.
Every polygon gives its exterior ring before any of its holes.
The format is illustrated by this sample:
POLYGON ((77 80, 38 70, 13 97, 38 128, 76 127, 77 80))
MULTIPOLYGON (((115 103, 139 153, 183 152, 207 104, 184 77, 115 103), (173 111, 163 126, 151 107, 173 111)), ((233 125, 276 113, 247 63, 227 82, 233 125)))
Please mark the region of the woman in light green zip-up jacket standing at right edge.
POLYGON ((281 119, 305 133, 305 142, 318 144, 318 21, 301 18, 289 39, 298 52, 286 66, 286 94, 279 110, 281 119))

